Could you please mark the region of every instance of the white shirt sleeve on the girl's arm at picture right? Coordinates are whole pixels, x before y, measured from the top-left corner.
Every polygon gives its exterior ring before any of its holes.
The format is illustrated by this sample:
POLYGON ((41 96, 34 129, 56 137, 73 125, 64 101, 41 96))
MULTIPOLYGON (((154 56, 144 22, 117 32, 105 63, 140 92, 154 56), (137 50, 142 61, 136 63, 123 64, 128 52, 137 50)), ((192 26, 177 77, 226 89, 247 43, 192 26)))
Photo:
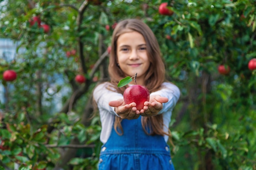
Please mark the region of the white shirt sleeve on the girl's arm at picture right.
POLYGON ((159 114, 162 114, 168 112, 169 110, 173 110, 180 98, 180 89, 170 82, 164 82, 159 91, 155 91, 150 95, 160 95, 168 98, 168 102, 163 103, 163 109, 159 111, 159 114))

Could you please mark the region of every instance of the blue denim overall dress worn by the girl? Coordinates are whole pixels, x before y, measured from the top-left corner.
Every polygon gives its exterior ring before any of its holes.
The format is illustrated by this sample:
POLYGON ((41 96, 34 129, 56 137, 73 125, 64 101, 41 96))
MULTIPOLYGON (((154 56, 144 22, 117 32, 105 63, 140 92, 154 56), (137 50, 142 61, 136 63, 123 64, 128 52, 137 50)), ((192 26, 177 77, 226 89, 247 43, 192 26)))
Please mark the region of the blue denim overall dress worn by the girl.
POLYGON ((121 121, 123 135, 112 128, 101 147, 99 170, 174 170, 169 146, 161 135, 147 135, 138 119, 121 121))

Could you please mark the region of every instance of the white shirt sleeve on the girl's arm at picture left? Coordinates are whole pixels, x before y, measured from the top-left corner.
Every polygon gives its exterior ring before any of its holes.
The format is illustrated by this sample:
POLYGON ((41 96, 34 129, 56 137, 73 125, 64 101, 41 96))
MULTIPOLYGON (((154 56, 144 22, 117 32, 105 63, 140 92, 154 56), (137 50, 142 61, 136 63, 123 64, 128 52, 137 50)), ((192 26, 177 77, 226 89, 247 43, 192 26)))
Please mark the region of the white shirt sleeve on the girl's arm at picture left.
MULTIPOLYGON (((99 110, 107 110, 109 113, 117 115, 115 108, 109 106, 109 102, 124 98, 122 94, 115 92, 115 89, 110 90, 110 83, 105 82, 99 84, 93 91, 93 98, 97 103, 99 110)), ((118 116, 118 115, 117 115, 118 116)))

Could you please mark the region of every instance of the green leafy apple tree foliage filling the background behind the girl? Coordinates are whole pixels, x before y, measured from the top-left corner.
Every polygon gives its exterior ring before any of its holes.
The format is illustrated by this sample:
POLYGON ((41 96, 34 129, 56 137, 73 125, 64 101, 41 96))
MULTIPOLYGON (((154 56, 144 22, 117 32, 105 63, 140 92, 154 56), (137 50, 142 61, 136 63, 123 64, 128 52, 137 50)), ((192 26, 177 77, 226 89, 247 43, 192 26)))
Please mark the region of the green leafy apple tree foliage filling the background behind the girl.
POLYGON ((97 169, 101 125, 91 93, 108 77, 108 58, 99 59, 124 18, 150 26, 168 80, 182 92, 170 125, 175 169, 255 170, 256 70, 248 69, 256 57, 255 0, 168 2, 172 16, 159 15, 159 0, 0 1, 0 38, 16 50, 11 61, 0 53, 0 170, 97 169), (30 25, 34 16, 48 33, 30 25), (218 73, 220 64, 230 66, 228 75, 218 73), (14 82, 2 80, 7 69, 17 72, 14 82), (74 81, 79 73, 85 84, 74 81))

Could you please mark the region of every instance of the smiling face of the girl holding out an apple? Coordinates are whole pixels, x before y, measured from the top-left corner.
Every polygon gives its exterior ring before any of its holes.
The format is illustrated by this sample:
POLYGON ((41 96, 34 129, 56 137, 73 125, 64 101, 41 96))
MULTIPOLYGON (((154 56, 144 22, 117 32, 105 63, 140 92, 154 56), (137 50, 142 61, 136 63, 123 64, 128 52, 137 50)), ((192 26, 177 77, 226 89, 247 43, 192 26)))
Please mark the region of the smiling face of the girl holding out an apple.
MULTIPOLYGON (((117 62, 125 76, 137 73, 137 84, 144 85, 144 77, 150 66, 146 42, 136 31, 123 33, 117 39, 117 62)), ((131 84, 135 84, 134 81, 131 84)))

